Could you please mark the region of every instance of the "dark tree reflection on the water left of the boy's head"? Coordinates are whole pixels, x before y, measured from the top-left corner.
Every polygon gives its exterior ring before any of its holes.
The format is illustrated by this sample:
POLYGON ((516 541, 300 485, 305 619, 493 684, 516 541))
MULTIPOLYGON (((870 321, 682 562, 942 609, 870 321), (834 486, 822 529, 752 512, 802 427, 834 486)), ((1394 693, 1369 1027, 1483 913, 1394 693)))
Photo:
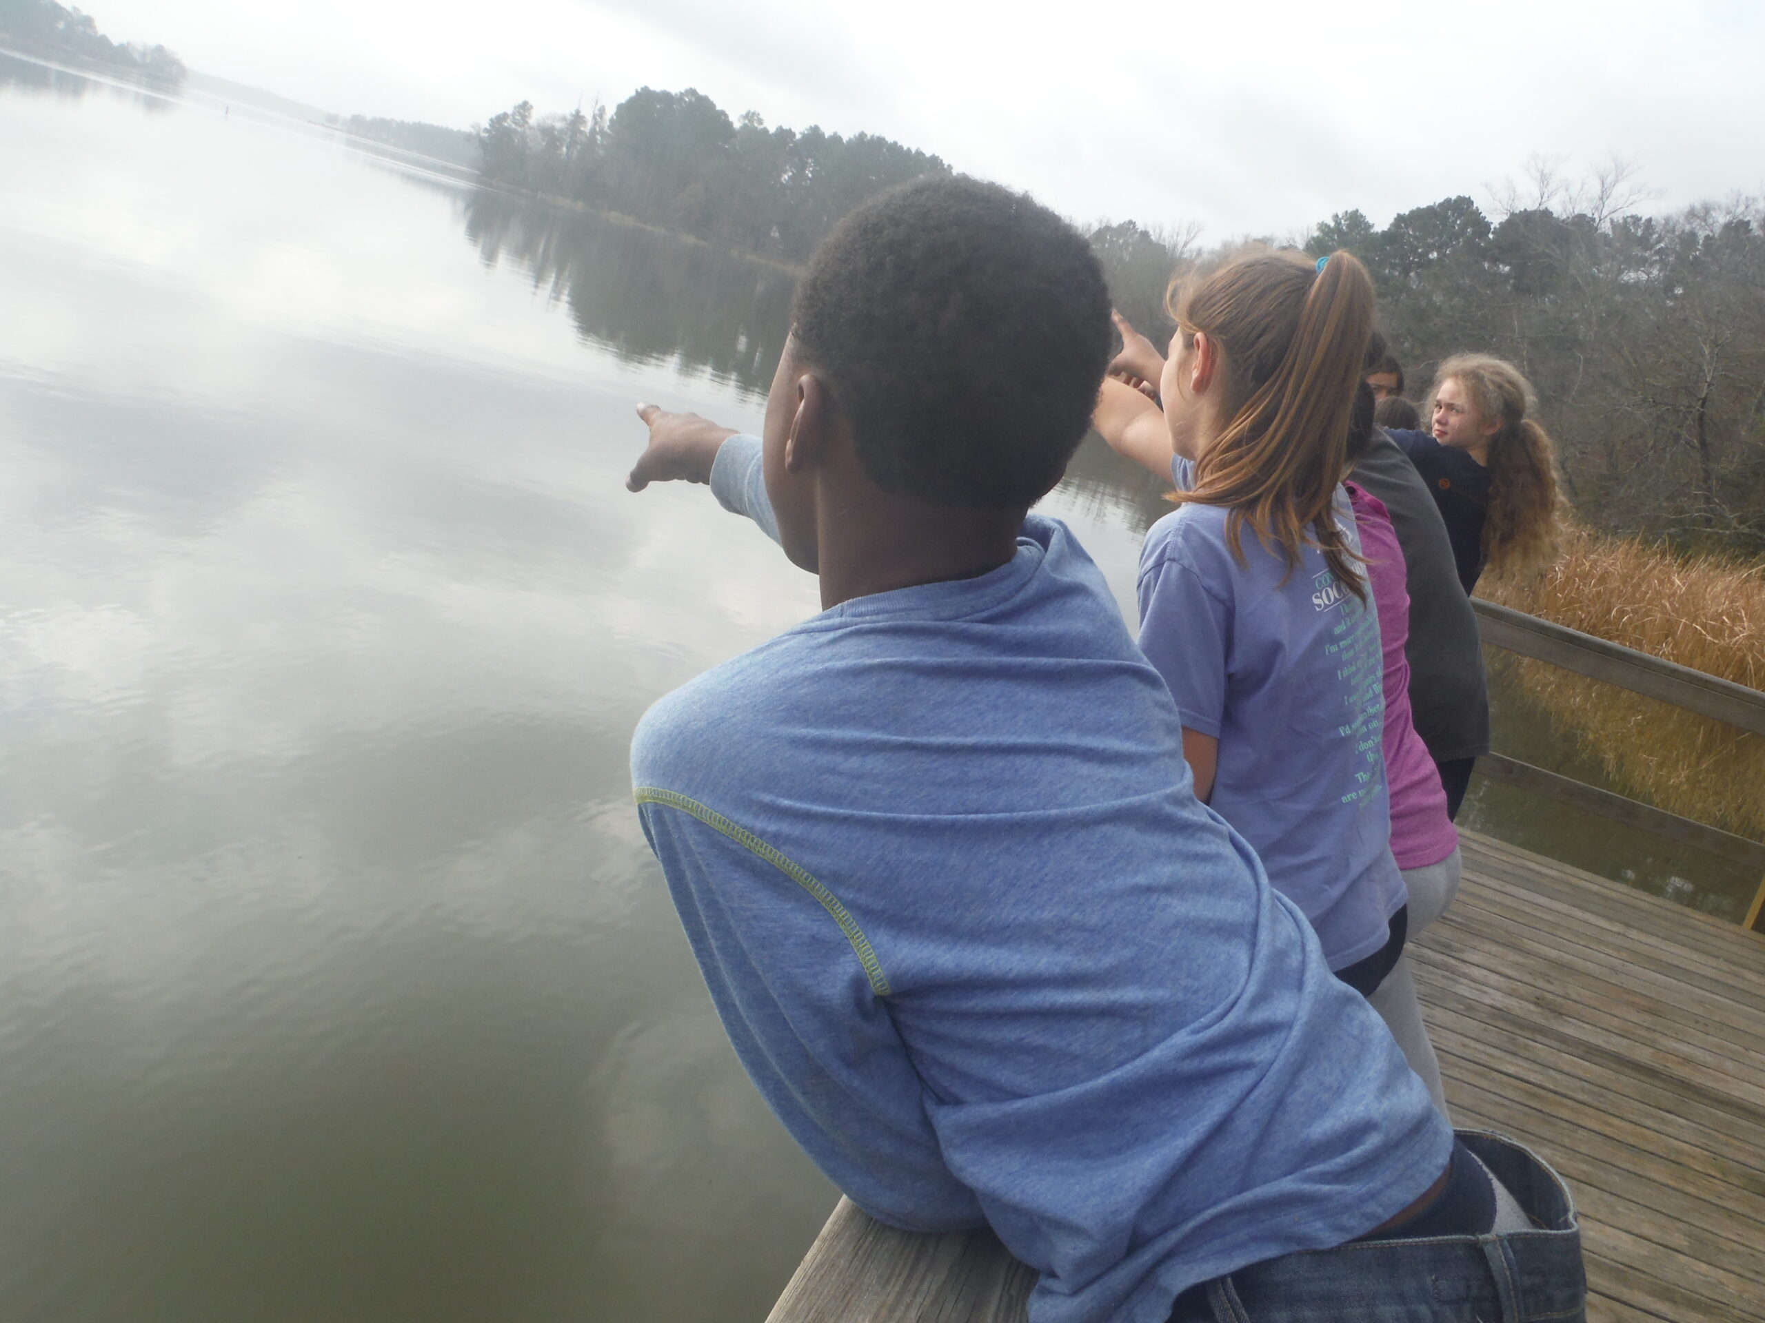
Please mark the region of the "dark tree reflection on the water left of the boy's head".
POLYGON ((796 273, 642 226, 466 194, 466 236, 570 307, 584 339, 630 362, 664 362, 764 392, 791 330, 796 273))

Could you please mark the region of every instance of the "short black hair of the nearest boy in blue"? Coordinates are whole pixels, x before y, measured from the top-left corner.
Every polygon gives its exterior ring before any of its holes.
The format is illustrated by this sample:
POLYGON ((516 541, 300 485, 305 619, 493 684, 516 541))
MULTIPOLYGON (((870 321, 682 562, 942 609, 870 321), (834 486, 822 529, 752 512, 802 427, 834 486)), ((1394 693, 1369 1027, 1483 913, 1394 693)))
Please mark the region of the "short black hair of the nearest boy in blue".
POLYGON ((1010 510, 1085 436, 1110 358, 1091 245, 1029 194, 928 175, 847 215, 796 293, 805 363, 882 490, 1010 510))

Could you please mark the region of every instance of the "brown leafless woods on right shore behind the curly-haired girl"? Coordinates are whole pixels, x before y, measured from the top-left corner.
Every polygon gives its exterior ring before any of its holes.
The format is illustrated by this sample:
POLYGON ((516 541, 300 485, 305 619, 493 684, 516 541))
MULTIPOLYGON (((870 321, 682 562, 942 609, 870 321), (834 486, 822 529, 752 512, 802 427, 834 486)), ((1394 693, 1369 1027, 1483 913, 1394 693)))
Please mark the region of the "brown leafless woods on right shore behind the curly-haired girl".
POLYGON ((1548 168, 1491 220, 1470 198, 1375 228, 1359 212, 1308 250, 1373 273, 1410 395, 1461 349, 1539 392, 1581 515, 1613 533, 1765 552, 1765 205, 1647 217, 1620 168, 1562 187, 1548 168))

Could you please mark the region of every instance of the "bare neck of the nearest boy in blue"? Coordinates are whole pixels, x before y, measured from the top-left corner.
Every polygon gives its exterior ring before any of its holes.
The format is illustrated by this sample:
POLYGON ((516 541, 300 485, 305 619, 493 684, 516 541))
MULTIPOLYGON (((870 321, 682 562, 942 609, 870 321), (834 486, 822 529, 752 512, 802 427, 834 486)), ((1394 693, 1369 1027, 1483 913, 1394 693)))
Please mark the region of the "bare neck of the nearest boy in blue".
POLYGON ((868 492, 817 512, 821 609, 918 584, 978 579, 1017 556, 1025 510, 950 510, 868 492), (881 499, 879 499, 881 497, 881 499))

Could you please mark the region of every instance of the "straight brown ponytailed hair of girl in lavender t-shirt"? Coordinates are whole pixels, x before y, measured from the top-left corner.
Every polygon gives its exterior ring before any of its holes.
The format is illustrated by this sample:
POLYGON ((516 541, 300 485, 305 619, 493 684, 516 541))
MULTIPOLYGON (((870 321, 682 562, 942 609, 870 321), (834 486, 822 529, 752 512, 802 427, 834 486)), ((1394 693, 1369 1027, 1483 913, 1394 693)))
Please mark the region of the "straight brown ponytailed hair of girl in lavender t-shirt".
POLYGON ((1373 282, 1348 252, 1315 266, 1301 252, 1260 250, 1227 263, 1167 307, 1193 344, 1221 351, 1232 418, 1195 460, 1195 487, 1175 501, 1228 506, 1227 545, 1244 563, 1250 524, 1288 573, 1317 547, 1363 602, 1348 536, 1333 499, 1347 469, 1348 411, 1373 333, 1373 282))

